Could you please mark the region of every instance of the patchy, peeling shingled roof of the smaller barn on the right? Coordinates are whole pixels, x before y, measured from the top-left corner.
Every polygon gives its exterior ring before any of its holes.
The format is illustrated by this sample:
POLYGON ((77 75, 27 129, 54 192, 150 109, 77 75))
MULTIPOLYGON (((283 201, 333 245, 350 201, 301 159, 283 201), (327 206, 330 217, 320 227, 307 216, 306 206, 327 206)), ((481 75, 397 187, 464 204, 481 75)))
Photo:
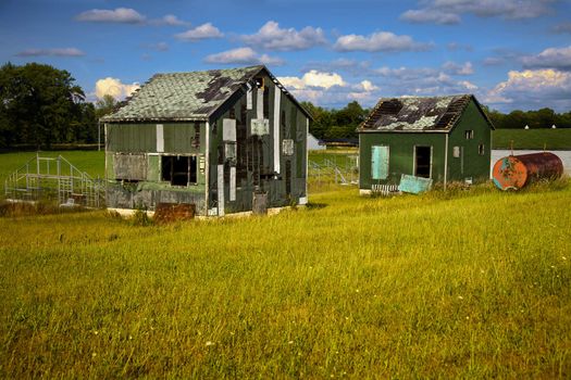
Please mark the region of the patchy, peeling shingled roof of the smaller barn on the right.
POLYGON ((432 98, 382 98, 358 128, 367 131, 438 131, 454 128, 473 100, 494 129, 482 106, 472 94, 432 98))

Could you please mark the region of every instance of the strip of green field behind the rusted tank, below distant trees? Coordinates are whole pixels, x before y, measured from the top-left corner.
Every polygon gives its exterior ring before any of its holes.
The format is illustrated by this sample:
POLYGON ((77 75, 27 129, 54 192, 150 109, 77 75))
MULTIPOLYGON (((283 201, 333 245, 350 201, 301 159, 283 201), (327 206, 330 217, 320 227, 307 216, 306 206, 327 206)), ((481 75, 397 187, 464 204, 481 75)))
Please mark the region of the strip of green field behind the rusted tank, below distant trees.
POLYGON ((494 149, 544 149, 571 150, 571 129, 496 129, 493 132, 494 149))

